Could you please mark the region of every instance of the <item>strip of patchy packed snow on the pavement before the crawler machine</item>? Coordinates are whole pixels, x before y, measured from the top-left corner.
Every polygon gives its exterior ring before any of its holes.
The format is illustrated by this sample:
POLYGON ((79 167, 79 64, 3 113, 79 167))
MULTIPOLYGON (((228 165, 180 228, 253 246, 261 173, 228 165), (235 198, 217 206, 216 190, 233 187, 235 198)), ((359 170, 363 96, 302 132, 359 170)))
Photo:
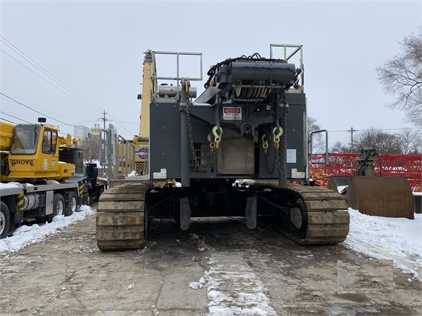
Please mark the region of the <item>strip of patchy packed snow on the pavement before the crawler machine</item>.
POLYGON ((192 289, 207 287, 209 315, 276 315, 265 286, 245 262, 242 253, 212 255, 210 269, 192 289))

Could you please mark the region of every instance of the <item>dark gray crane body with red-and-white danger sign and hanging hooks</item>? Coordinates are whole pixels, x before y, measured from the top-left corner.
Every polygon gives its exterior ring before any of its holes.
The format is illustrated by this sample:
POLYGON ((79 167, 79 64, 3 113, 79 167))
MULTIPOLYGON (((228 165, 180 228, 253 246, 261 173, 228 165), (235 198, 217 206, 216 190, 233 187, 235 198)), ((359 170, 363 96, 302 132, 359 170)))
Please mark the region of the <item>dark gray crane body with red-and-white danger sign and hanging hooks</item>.
POLYGON ((192 179, 304 181, 307 105, 305 93, 293 89, 300 72, 281 59, 236 58, 210 70, 195 102, 183 87, 180 100, 157 98, 150 104, 151 179, 165 170, 182 186, 192 179), (214 126, 222 131, 218 149, 210 147, 214 126))

